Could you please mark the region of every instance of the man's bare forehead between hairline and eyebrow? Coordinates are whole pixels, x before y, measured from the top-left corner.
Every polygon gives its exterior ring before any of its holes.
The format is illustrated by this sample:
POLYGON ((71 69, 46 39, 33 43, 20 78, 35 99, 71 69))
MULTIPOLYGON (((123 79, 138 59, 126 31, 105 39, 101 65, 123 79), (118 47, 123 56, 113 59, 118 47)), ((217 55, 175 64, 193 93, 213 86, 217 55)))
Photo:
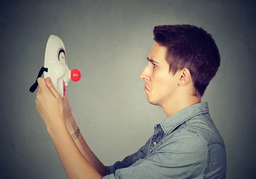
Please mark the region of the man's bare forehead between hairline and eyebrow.
POLYGON ((167 48, 160 46, 159 43, 155 42, 148 54, 148 58, 157 60, 160 63, 165 61, 167 48))

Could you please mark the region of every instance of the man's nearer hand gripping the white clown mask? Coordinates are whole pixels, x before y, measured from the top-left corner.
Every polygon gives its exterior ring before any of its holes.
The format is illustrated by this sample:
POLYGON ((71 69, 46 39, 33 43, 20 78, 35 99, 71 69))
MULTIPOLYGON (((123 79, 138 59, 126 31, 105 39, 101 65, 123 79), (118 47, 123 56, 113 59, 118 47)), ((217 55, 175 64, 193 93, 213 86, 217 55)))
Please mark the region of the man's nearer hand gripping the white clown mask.
MULTIPOLYGON (((50 79, 49 77, 47 79, 50 79)), ((40 77, 38 81, 38 92, 36 94, 36 109, 40 113, 47 128, 50 125, 58 126, 64 123, 64 107, 61 95, 55 90, 51 81, 40 77)))

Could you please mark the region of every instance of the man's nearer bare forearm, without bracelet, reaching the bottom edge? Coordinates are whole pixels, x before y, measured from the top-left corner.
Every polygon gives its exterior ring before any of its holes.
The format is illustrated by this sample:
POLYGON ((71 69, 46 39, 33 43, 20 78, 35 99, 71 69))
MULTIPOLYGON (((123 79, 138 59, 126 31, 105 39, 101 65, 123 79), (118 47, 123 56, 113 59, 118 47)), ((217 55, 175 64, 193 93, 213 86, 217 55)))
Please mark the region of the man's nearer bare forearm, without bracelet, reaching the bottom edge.
POLYGON ((102 178, 79 151, 64 123, 58 126, 49 126, 47 131, 52 137, 58 156, 69 179, 102 178))

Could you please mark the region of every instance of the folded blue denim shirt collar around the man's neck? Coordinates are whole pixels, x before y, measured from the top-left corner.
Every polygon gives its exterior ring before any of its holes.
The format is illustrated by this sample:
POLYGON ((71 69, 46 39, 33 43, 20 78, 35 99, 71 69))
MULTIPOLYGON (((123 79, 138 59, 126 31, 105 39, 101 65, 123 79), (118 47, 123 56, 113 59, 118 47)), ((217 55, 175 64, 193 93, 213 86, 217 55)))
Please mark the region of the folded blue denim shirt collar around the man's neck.
POLYGON ((209 113, 208 102, 200 102, 186 107, 185 109, 180 110, 179 112, 160 122, 160 125, 164 133, 169 134, 178 125, 184 123, 195 115, 199 115, 202 113, 209 113))

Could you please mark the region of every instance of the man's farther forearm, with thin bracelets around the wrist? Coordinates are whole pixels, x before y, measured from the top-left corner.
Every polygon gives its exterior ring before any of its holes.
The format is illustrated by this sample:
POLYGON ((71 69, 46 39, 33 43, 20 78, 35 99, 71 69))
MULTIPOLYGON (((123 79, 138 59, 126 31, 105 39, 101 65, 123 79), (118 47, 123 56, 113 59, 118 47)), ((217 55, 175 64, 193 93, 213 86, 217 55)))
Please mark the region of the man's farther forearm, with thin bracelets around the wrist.
MULTIPOLYGON (((70 116, 66 120, 66 127, 69 131, 70 135, 76 132, 77 130, 77 124, 73 116, 70 116)), ((105 165, 102 164, 102 162, 95 156, 95 154, 90 150, 88 147, 86 141, 84 140, 84 137, 81 134, 74 140, 76 143, 76 146, 79 148, 80 152, 83 154, 83 156, 87 159, 87 161, 94 167, 95 170, 101 175, 106 176, 107 171, 105 165)))

